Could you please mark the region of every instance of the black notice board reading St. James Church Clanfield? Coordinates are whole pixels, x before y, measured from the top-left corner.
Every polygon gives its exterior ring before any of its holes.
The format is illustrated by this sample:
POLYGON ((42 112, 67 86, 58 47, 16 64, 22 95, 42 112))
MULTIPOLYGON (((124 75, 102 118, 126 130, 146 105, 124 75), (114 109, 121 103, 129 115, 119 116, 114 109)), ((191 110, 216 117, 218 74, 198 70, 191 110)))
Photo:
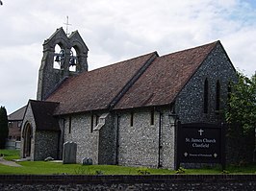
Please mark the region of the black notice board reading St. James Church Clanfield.
POLYGON ((180 125, 178 128, 179 162, 221 163, 221 133, 220 126, 209 124, 180 125))

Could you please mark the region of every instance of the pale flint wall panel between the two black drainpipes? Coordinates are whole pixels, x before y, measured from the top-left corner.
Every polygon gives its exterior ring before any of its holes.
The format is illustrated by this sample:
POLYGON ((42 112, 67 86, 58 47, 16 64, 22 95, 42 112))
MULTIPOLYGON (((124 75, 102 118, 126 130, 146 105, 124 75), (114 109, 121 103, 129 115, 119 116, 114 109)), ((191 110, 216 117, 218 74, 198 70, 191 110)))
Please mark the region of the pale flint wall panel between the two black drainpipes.
MULTIPOLYGON (((158 165, 158 122, 150 125, 150 110, 121 113, 119 119, 118 163, 126 166, 158 165)), ((156 114, 155 114, 156 115, 156 114)))

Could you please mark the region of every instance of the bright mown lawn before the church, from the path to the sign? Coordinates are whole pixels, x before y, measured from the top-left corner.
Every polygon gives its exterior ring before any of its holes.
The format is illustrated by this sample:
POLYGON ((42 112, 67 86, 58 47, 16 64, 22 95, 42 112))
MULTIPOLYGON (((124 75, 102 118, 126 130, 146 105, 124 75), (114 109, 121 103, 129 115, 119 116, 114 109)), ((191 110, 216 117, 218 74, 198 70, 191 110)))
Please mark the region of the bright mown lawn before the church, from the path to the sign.
POLYGON ((166 169, 147 169, 136 167, 123 167, 116 165, 87 165, 63 164, 44 161, 17 162, 22 167, 11 167, 0 164, 0 174, 16 175, 139 175, 139 171, 153 175, 173 174, 174 171, 166 169))

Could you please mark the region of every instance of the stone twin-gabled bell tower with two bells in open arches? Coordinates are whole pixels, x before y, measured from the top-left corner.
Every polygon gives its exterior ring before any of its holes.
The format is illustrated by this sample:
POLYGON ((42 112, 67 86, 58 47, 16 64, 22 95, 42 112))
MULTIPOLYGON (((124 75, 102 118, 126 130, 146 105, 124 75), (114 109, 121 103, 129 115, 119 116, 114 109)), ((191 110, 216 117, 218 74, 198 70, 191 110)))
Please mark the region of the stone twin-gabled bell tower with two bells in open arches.
POLYGON ((38 72, 38 100, 47 97, 66 78, 88 71, 88 47, 78 31, 70 36, 60 28, 44 40, 43 56, 38 72), (59 48, 59 50, 57 50, 59 48))

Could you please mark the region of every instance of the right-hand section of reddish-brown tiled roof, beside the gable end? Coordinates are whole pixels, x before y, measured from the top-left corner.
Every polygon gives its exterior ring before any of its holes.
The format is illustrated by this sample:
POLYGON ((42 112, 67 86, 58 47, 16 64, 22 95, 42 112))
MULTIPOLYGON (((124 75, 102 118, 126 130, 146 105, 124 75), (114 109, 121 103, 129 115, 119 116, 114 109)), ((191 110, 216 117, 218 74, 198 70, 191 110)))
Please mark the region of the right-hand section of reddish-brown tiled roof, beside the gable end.
POLYGON ((218 41, 154 60, 115 109, 170 104, 218 41))

